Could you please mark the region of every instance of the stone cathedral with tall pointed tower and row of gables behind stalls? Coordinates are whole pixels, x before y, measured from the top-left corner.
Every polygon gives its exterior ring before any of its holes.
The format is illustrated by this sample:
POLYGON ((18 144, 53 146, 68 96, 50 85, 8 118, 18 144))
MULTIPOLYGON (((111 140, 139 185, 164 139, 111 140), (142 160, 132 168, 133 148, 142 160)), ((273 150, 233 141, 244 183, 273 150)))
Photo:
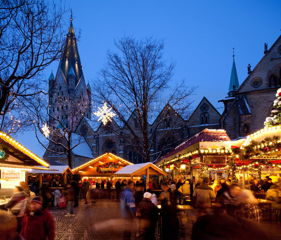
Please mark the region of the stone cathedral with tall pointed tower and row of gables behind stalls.
MULTIPOLYGON (((157 126, 154 142, 152 142, 151 161, 204 128, 219 128, 220 114, 205 97, 189 119, 183 119, 169 105, 166 105, 163 110, 165 110, 164 120, 157 126)), ((143 162, 142 157, 133 147, 124 143, 120 137, 120 134, 130 134, 126 127, 118 125, 114 118, 110 125, 106 126, 92 119, 91 89, 89 84, 85 84, 72 21, 56 75, 54 77, 51 73, 49 77, 49 113, 50 127, 54 130, 67 128, 71 132, 71 146, 77 144, 72 149, 72 167, 105 152, 111 152, 133 163, 143 162)), ((147 123, 149 131, 155 129, 157 119, 163 117, 160 115, 153 122, 147 123)), ((137 129, 137 122, 133 115, 127 119, 127 123, 131 128, 137 129)), ((51 142, 48 149, 56 152, 63 151, 59 144, 51 142)), ((66 156, 48 150, 45 151, 43 157, 46 160, 56 159, 67 164, 66 156)))

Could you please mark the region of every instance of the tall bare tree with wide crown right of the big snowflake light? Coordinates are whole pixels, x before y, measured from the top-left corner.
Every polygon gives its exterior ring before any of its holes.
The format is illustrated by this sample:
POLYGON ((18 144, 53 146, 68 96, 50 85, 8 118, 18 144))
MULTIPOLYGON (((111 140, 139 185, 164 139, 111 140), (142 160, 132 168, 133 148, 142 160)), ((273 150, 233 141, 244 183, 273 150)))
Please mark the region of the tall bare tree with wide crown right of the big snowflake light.
MULTIPOLYGON (((122 144, 131 146, 149 161, 152 154, 159 156, 168 149, 163 144, 159 152, 151 153, 156 130, 160 123, 186 114, 190 102, 187 97, 194 87, 186 87, 184 81, 170 87, 174 62, 163 60, 163 40, 146 38, 135 40, 124 36, 114 42, 117 52, 107 52, 107 59, 100 71, 100 79, 94 83, 95 105, 106 102, 116 113, 116 120, 124 125, 117 132, 122 144), (173 109, 173 110, 172 110, 173 109), (153 124, 148 122, 155 118, 153 124), (129 123, 133 117, 135 124, 129 123)), ((176 122, 167 122, 166 137, 174 131, 176 122), (170 124, 169 124, 170 123, 170 124)))

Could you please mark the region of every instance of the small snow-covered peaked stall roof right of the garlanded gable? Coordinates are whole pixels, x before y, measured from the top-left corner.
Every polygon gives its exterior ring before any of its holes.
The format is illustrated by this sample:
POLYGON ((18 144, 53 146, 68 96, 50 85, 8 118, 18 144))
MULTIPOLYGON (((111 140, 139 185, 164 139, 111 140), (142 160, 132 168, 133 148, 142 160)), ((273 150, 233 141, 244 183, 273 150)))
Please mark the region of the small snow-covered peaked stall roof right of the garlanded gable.
MULTIPOLYGON (((117 172, 115 172, 114 174, 116 174, 116 175, 131 175, 131 176, 138 175, 138 174, 142 174, 141 172, 143 170, 147 169, 148 167, 155 170, 158 174, 166 175, 166 173, 161 168, 159 168, 158 166, 156 166, 152 162, 145 162, 145 163, 127 165, 127 166, 124 166, 123 168, 121 168, 120 170, 118 170, 117 172)), ((151 173, 151 175, 153 175, 153 173, 151 173)))

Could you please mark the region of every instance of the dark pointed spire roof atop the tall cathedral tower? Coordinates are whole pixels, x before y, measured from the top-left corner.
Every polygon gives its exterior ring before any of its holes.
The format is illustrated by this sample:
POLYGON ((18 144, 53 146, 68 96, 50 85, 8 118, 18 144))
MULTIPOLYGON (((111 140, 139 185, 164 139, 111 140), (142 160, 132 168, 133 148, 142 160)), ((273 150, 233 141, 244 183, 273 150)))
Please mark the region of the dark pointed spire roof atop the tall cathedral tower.
POLYGON ((61 68, 67 84, 68 84, 68 72, 71 70, 75 75, 75 85, 79 82, 81 76, 83 76, 81 61, 78 53, 76 37, 74 34, 74 29, 72 25, 72 12, 70 17, 70 24, 68 28, 68 33, 65 39, 65 46, 63 54, 60 60, 59 67, 61 68))

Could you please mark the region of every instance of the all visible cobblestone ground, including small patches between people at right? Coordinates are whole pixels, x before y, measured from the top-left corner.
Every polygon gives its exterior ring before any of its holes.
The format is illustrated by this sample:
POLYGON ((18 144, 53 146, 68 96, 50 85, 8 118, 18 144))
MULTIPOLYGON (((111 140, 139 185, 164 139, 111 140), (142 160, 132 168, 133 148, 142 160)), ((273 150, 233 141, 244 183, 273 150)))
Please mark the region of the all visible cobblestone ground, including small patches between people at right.
MULTIPOLYGON (((122 239, 122 227, 125 225, 120 218, 120 205, 115 199, 99 199, 95 203, 84 204, 80 200, 79 206, 74 208, 75 216, 65 217, 66 209, 50 207, 55 225, 57 240, 106 240, 122 239)), ((196 220, 196 211, 189 211, 188 218, 183 213, 180 215, 182 225, 179 240, 191 238, 191 227, 196 220)), ((261 223, 269 233, 270 239, 281 239, 280 223, 261 223)), ((135 225, 134 225, 135 227, 135 225)), ((136 240, 135 228, 132 229, 132 240, 136 240)), ((265 240, 265 239, 264 239, 265 240)))

